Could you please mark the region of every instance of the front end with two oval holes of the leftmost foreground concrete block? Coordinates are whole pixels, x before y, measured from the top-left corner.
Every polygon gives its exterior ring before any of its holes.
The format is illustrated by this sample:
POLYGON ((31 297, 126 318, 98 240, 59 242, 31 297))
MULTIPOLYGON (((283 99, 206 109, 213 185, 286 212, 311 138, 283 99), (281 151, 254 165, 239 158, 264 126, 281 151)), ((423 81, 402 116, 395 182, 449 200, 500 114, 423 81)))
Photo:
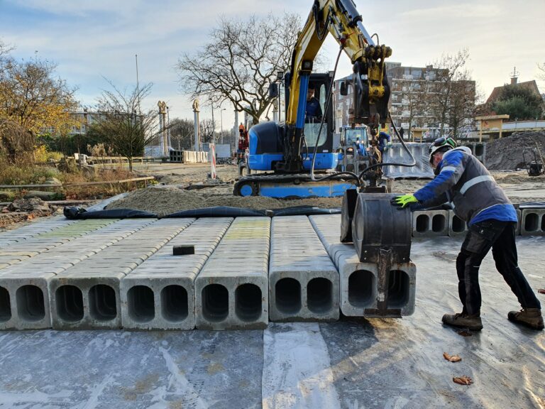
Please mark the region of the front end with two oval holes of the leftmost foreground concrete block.
POLYGON ((53 273, 0 276, 0 329, 51 327, 48 279, 53 273))

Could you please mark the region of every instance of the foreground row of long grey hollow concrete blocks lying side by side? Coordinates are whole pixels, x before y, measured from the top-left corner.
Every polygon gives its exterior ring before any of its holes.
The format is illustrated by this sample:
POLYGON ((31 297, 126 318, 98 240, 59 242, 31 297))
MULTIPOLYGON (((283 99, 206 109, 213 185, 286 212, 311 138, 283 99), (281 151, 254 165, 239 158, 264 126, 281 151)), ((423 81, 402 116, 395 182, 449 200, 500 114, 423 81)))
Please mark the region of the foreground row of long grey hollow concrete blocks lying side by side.
MULTIPOLYGON (((338 215, 270 220, 122 221, 73 239, 0 269, 0 329, 251 329, 337 320, 339 310, 370 316, 376 266, 338 241, 338 215), (180 244, 194 254, 172 256, 180 244)), ((414 265, 395 266, 389 307, 411 314, 414 283, 414 265)))

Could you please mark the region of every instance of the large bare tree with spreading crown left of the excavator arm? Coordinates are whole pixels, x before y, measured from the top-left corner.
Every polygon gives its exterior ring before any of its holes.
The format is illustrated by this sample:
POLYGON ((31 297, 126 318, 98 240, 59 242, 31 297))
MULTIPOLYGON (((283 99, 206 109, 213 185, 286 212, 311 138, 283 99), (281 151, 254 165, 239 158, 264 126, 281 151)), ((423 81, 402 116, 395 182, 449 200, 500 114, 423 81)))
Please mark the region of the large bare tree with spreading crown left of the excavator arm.
POLYGON ((300 27, 299 16, 290 13, 247 21, 222 18, 207 45, 178 60, 182 91, 214 105, 231 102, 257 124, 271 103, 268 85, 277 72, 289 70, 300 27))

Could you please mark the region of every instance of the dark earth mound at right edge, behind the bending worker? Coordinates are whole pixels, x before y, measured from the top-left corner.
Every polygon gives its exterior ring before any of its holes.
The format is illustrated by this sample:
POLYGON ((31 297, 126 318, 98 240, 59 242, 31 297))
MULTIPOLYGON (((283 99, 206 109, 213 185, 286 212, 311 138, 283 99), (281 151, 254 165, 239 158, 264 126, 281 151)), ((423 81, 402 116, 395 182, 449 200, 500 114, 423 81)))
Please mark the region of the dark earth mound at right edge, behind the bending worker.
MULTIPOLYGON (((534 149, 536 143, 545 155, 545 131, 515 132, 507 138, 492 141, 486 146, 486 167, 489 170, 514 170, 525 168, 522 151, 534 149)), ((534 160, 534 153, 526 151, 526 160, 534 160)), ((538 157, 539 159, 539 157, 538 157)))

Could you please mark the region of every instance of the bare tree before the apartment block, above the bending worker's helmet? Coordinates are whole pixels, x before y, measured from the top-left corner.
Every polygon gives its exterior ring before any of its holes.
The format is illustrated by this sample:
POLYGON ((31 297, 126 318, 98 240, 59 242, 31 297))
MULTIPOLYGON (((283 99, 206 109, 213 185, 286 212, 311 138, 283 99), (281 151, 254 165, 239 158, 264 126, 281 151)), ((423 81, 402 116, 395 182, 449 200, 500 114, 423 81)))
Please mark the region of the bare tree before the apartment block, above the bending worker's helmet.
POLYGON ((441 135, 445 126, 453 129, 454 136, 473 119, 475 110, 475 82, 466 68, 469 51, 463 49, 456 55, 444 54, 434 62, 435 79, 431 82, 428 107, 439 124, 441 135))

